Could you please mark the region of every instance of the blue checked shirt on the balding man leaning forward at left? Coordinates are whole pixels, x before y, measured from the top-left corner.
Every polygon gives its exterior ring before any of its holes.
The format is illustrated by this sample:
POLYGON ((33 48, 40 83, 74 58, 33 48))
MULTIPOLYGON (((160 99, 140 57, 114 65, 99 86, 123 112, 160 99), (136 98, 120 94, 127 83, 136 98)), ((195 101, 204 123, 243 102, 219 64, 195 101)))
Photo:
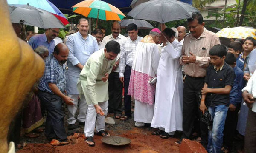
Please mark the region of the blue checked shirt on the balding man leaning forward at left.
POLYGON ((38 88, 41 91, 54 94, 48 83, 55 83, 62 93, 66 86, 66 64, 61 65, 58 60, 50 54, 45 60, 44 75, 41 78, 38 88))

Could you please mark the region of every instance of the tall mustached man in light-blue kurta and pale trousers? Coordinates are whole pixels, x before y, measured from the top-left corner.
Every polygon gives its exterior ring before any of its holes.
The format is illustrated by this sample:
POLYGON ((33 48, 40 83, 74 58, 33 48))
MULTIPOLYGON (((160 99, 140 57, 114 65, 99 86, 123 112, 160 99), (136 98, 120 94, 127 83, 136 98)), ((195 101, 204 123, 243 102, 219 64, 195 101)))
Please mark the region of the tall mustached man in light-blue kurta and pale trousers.
MULTIPOLYGON (((67 66, 67 96, 74 99, 74 105, 68 106, 68 119, 67 122, 69 124, 68 129, 75 129, 76 123, 76 110, 79 92, 76 88, 76 83, 79 77, 81 70, 83 69, 87 59, 93 54, 95 51, 99 50, 99 46, 97 40, 92 35, 88 34, 89 31, 89 22, 85 18, 81 18, 78 21, 77 28, 79 32, 71 34, 67 38, 67 47, 70 50, 67 66)), ((87 104, 86 101, 80 99, 79 105, 79 115, 77 119, 80 125, 84 126, 85 118, 86 118, 87 104)))

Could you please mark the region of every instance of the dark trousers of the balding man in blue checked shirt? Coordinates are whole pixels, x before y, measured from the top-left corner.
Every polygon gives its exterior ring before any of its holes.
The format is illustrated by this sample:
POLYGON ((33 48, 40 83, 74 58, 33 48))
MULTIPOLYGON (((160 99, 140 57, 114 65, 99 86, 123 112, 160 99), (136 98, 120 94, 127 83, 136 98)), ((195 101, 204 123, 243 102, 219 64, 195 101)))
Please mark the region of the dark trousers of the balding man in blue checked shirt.
POLYGON ((61 97, 44 91, 38 91, 38 97, 47 111, 45 122, 45 136, 48 140, 64 141, 67 134, 64 128, 63 100, 61 97))

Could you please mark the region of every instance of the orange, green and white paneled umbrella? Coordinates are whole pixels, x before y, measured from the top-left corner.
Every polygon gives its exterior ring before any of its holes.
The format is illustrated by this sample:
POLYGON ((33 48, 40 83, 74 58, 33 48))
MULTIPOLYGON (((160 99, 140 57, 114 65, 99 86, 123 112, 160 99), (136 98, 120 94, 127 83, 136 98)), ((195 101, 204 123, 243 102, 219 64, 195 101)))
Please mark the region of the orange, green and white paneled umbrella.
POLYGON ((98 19, 121 21, 125 17, 125 14, 118 8, 101 0, 84 0, 72 7, 75 13, 82 14, 85 17, 96 18, 96 25, 98 19))

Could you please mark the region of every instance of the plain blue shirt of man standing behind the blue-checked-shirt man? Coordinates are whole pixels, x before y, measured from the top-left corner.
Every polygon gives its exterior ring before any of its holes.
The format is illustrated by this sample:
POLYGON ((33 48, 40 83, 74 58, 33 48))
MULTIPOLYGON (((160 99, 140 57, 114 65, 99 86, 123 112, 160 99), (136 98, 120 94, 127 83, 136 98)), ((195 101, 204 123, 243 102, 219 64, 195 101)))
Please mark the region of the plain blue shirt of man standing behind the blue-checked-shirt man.
POLYGON ((40 45, 45 46, 49 50, 49 55, 52 54, 55 46, 54 40, 51 40, 49 43, 46 37, 46 34, 38 34, 29 39, 29 45, 35 50, 40 45))

